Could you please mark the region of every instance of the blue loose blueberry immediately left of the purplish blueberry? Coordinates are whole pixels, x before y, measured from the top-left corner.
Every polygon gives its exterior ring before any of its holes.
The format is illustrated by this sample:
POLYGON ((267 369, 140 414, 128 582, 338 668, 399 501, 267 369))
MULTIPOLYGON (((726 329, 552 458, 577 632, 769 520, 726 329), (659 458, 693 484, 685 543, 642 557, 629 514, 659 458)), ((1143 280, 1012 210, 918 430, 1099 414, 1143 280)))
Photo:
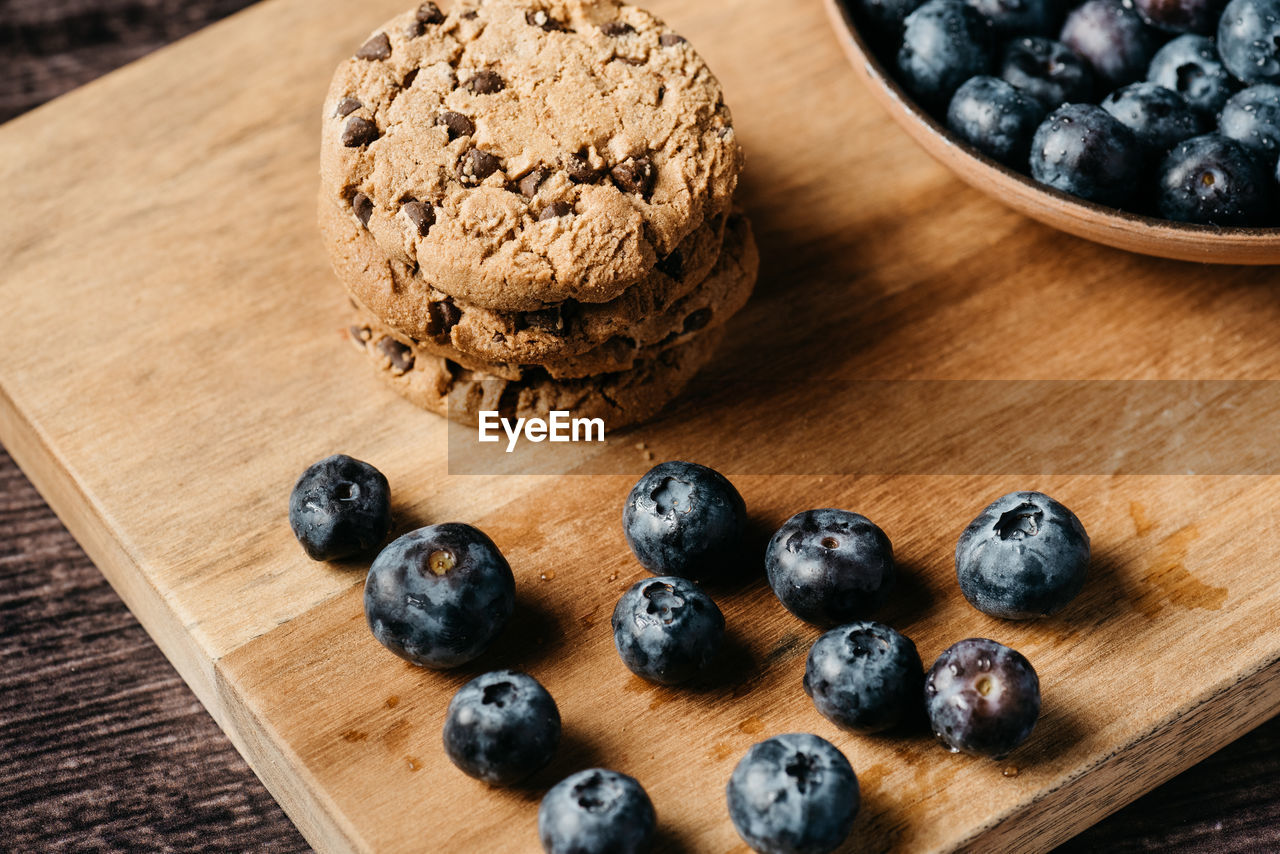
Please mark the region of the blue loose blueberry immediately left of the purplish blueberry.
POLYGON ((879 622, 832 629, 814 641, 804 693, 818 712, 855 732, 882 732, 916 712, 924 665, 915 644, 879 622))

